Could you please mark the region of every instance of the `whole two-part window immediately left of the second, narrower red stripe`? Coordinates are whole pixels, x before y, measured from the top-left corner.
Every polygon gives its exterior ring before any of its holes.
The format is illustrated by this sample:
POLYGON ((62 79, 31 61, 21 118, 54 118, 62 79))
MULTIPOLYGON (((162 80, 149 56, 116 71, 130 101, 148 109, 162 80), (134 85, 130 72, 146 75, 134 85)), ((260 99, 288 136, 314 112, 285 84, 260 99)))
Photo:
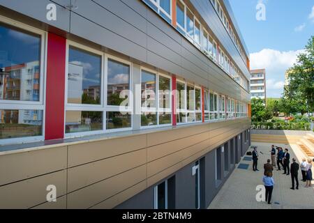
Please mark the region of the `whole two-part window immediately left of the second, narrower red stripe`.
POLYGON ((142 70, 142 116, 141 125, 170 125, 171 79, 154 71, 142 70), (158 89, 158 91, 156 91, 158 89))

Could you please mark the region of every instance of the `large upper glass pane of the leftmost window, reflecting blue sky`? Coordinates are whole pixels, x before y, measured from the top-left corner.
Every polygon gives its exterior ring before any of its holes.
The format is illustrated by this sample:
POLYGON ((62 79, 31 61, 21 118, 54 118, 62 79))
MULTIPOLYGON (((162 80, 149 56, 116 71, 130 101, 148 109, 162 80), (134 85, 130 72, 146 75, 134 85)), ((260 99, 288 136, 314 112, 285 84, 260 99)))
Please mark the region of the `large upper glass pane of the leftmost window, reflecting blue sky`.
POLYGON ((40 42, 0 23, 0 100, 39 101, 40 42))

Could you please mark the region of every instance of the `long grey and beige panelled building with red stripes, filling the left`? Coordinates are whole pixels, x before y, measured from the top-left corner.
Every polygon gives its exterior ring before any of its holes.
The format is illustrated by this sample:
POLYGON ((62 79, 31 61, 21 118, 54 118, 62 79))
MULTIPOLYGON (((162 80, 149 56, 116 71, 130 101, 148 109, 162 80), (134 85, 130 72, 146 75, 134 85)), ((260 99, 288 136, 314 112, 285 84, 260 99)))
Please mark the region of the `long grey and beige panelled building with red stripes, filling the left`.
POLYGON ((249 63, 227 0, 1 0, 0 208, 207 208, 249 63))

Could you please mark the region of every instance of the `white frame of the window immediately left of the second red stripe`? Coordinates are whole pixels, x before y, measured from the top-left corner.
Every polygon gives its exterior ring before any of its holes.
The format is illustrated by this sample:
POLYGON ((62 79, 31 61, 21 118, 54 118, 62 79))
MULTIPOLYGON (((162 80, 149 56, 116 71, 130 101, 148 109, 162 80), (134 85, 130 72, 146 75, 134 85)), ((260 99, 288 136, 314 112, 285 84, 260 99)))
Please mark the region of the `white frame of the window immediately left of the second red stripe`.
MULTIPOLYGON (((157 121, 157 124, 156 125, 148 125, 148 126, 142 126, 142 123, 141 123, 141 129, 147 129, 147 128, 158 128, 158 127, 164 127, 164 126, 170 126, 172 125, 172 116, 171 116, 171 123, 169 124, 160 124, 159 123, 159 113, 160 112, 165 112, 165 113, 170 113, 172 115, 172 96, 171 96, 171 93, 172 93, 172 78, 170 77, 170 75, 165 75, 161 72, 157 72, 156 70, 151 70, 149 68, 146 68, 144 66, 141 66, 140 68, 140 83, 141 83, 141 92, 142 92, 142 71, 147 71, 147 72, 151 72, 152 74, 156 75, 156 92, 155 92, 155 98, 156 98, 156 107, 154 108, 151 108, 151 107, 142 107, 142 104, 141 104, 141 115, 142 115, 142 112, 154 112, 156 113, 156 121, 157 121), (159 107, 159 77, 166 77, 168 79, 170 79, 170 108, 166 108, 166 109, 163 109, 163 108, 160 108, 159 107)), ((140 95, 140 100, 142 101, 142 93, 140 95)))

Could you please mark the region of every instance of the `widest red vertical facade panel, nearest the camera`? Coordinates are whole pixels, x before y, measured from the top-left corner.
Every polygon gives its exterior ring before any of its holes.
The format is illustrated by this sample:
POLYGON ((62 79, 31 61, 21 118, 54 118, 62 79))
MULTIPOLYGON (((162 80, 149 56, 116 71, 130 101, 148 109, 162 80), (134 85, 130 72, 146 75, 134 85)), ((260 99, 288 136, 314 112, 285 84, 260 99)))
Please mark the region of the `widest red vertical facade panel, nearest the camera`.
POLYGON ((45 140, 64 137, 66 38, 48 33, 45 140))

